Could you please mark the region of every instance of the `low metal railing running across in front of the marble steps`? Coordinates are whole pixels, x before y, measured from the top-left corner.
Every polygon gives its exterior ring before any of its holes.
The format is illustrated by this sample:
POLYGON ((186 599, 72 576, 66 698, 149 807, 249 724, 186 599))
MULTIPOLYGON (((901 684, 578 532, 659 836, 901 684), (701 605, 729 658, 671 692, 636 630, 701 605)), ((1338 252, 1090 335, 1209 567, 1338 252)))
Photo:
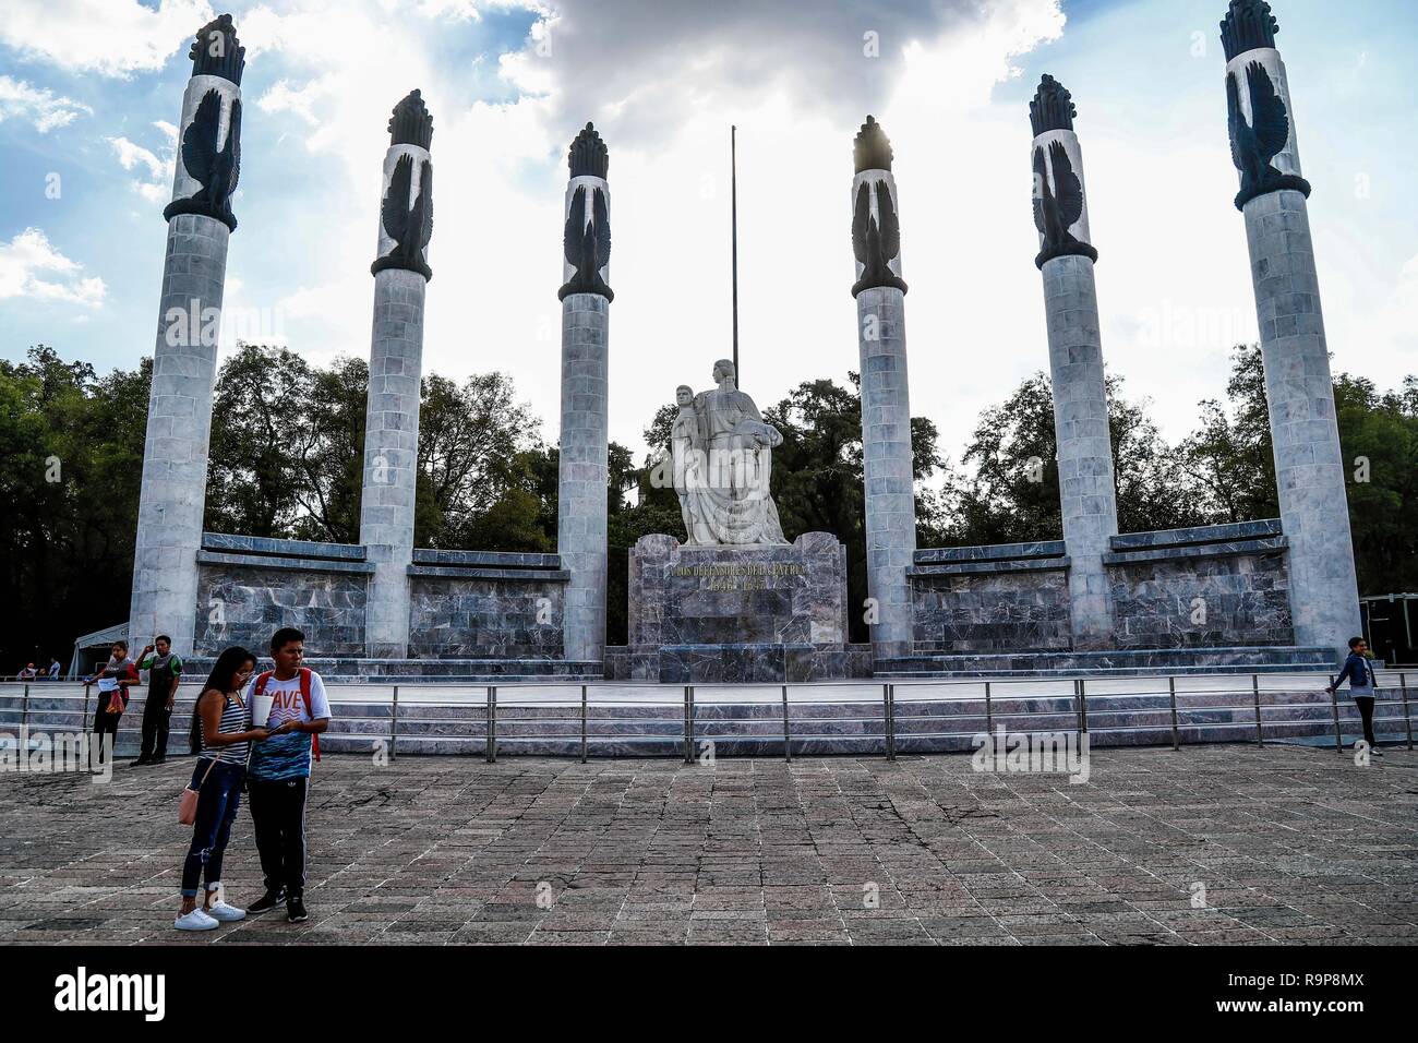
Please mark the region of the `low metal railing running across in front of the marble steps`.
MULTIPOLYGON (((326 680, 332 752, 547 756, 793 756, 951 752, 978 736, 1073 732, 1092 745, 1285 742, 1343 751, 1360 724, 1320 674, 1065 680, 902 680, 811 684, 349 684, 326 680)), ((142 695, 119 725, 138 742, 142 695)), ((179 698, 169 751, 186 752, 191 700, 179 698)), ((0 684, 0 738, 92 728, 96 698, 77 683, 0 684)), ((1374 731, 1412 749, 1409 674, 1380 674, 1374 731)), ((35 739, 38 741, 38 739, 35 739)))

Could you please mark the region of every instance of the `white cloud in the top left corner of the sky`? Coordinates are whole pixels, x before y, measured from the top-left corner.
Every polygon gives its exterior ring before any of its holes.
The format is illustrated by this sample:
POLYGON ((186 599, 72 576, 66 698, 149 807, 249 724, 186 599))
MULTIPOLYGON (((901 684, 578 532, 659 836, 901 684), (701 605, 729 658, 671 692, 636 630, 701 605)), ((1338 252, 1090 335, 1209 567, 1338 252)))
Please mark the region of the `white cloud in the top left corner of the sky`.
POLYGON ((126 77, 157 70, 213 18, 206 0, 7 0, 0 41, 65 70, 126 77))

